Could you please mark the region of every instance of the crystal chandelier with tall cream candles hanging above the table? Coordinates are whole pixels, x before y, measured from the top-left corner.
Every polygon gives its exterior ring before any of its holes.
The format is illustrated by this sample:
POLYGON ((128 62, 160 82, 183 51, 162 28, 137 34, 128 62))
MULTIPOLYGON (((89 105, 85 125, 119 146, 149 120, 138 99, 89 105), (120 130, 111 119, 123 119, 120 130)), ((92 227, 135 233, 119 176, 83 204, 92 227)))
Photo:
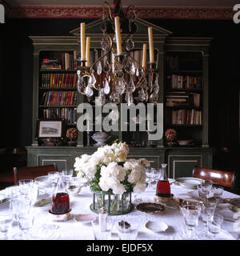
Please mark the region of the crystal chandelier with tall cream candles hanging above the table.
MULTIPOLYGON (((85 23, 81 23, 81 58, 78 58, 78 92, 86 95, 89 102, 98 96, 100 102, 128 105, 136 102, 158 102, 158 73, 154 60, 154 42, 152 27, 148 28, 150 62, 146 63, 147 44, 142 46, 141 63, 133 54, 134 41, 132 35, 137 29, 134 24, 134 6, 126 12, 122 10, 121 1, 114 1, 111 12, 108 2, 102 5, 102 56, 90 65, 90 38, 85 36, 85 23), (107 6, 108 14, 105 8, 107 6), (121 30, 126 37, 121 37, 121 30), (114 34, 111 38, 110 34, 114 34), (110 58, 106 58, 109 56, 110 58), (107 60, 110 59, 110 62, 107 60), (102 75, 102 82, 96 76, 102 75), (95 93, 96 92, 96 93, 95 93)), ((158 55, 158 54, 157 54, 158 55)))

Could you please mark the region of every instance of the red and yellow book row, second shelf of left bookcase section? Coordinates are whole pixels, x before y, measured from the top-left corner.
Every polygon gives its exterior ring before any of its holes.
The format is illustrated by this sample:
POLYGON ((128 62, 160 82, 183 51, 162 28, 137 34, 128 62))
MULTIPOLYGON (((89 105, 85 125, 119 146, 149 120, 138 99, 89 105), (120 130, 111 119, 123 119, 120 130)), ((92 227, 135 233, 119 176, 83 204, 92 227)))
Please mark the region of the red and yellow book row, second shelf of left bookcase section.
POLYGON ((77 73, 43 73, 41 86, 45 88, 76 88, 77 73))

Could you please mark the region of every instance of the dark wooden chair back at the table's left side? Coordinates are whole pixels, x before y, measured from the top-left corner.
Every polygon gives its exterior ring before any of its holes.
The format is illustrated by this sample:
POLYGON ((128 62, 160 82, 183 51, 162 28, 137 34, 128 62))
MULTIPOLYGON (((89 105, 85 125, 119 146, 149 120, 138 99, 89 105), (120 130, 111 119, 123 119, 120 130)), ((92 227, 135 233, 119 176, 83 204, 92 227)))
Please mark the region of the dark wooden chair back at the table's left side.
POLYGON ((47 175, 50 171, 57 171, 58 166, 54 163, 49 166, 33 166, 18 168, 14 167, 14 185, 18 185, 20 179, 37 178, 38 176, 47 175))

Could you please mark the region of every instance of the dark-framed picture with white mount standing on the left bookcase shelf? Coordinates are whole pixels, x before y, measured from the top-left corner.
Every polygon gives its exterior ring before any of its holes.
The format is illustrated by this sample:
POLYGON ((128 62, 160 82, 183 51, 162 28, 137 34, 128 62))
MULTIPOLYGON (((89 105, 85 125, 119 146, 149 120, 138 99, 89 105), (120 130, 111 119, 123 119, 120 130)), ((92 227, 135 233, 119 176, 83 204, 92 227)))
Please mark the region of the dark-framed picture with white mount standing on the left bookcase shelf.
POLYGON ((64 138, 64 124, 64 119, 38 119, 36 138, 42 140, 46 146, 56 146, 64 138))

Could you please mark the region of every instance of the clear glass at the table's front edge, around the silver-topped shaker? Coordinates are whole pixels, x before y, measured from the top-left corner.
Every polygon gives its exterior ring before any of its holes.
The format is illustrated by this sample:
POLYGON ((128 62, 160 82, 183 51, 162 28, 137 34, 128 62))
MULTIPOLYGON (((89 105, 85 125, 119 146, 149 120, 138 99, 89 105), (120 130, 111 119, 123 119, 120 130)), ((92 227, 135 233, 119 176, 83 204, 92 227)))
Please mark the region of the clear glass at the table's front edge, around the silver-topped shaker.
POLYGON ((110 234, 112 230, 112 220, 108 217, 106 218, 106 230, 102 231, 99 225, 99 218, 96 218, 91 222, 92 228, 94 230, 95 240, 110 240, 110 234))

